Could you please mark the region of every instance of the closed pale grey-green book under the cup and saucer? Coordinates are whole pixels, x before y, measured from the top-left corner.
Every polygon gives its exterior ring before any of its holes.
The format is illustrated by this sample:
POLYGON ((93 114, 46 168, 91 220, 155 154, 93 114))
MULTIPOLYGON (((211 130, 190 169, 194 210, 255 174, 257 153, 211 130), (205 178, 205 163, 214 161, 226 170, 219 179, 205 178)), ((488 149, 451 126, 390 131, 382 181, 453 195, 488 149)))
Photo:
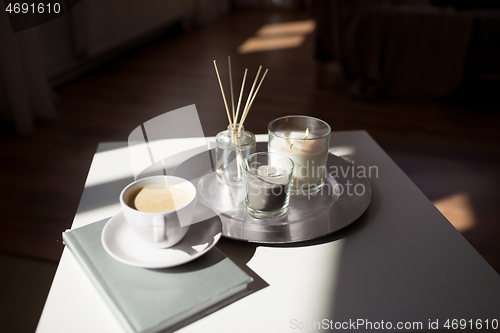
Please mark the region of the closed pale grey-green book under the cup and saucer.
POLYGON ((248 292, 252 278, 216 247, 194 261, 164 269, 113 259, 101 243, 108 220, 67 230, 63 241, 126 331, 171 332, 248 292))

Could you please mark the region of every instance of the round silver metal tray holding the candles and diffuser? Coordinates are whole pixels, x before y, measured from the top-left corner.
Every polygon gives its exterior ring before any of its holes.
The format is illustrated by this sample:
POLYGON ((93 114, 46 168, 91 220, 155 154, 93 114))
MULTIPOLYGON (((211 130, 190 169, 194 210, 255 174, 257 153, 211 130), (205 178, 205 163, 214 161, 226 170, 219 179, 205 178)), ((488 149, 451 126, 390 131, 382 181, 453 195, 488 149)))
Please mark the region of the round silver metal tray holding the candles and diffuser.
MULTIPOLYGON (((267 143, 257 144, 257 151, 267 151, 267 143)), ((213 161, 213 150, 198 154, 181 163, 172 175, 195 183, 199 203, 219 215, 224 237, 273 244, 315 239, 351 224, 370 204, 368 179, 354 164, 329 154, 326 183, 320 192, 292 196, 288 212, 281 217, 256 219, 245 210, 243 187, 221 184, 213 161)))

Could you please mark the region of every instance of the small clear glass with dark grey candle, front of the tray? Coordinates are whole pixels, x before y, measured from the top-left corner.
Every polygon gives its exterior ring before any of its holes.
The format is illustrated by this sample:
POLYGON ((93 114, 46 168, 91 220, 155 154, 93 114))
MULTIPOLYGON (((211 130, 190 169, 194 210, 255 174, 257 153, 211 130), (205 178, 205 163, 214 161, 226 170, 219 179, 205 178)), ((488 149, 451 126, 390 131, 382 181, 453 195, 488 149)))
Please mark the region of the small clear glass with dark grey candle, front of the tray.
POLYGON ((277 153, 255 153, 242 162, 245 208, 256 218, 284 215, 290 204, 293 161, 277 153))

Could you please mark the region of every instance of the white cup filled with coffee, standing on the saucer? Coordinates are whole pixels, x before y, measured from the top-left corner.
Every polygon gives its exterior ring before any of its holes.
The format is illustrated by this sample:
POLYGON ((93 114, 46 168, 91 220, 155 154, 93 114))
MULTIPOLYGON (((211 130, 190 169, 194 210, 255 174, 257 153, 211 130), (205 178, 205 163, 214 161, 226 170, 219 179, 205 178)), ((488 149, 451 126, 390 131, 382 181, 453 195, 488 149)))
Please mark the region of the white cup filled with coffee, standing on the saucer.
POLYGON ((153 176, 120 193, 125 220, 144 244, 168 248, 188 232, 196 207, 196 187, 186 179, 153 176))

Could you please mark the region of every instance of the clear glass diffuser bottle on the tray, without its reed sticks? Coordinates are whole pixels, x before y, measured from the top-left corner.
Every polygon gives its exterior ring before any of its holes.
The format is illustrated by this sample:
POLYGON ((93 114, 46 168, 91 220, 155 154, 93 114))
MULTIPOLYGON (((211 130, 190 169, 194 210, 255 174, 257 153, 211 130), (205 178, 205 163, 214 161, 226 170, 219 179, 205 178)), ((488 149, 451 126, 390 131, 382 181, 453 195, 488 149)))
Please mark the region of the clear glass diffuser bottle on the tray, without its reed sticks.
POLYGON ((227 130, 215 137, 215 172, 217 180, 223 184, 241 186, 243 171, 241 161, 255 153, 255 135, 239 124, 228 125, 227 130))

